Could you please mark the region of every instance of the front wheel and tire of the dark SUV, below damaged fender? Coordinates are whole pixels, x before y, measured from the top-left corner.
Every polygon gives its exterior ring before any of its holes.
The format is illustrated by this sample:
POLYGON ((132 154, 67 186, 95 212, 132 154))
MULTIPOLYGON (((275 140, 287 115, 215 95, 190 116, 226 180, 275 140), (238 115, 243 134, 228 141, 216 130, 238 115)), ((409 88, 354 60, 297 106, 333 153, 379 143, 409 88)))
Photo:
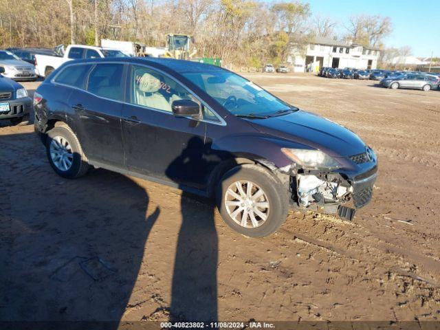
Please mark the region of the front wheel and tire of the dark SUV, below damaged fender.
POLYGON ((289 211, 287 189, 268 170, 253 164, 228 170, 217 184, 216 199, 223 221, 250 237, 272 234, 289 211))

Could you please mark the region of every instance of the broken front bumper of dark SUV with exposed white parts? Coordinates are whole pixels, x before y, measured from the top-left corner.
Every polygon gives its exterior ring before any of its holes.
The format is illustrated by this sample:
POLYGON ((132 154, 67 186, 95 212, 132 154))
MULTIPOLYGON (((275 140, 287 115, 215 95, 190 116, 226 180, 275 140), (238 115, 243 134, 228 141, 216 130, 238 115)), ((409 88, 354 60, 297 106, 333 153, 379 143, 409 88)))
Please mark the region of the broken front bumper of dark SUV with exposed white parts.
POLYGON ((358 173, 305 170, 294 165, 284 170, 290 177, 289 193, 295 208, 321 210, 349 220, 356 209, 371 201, 377 177, 377 164, 358 173))

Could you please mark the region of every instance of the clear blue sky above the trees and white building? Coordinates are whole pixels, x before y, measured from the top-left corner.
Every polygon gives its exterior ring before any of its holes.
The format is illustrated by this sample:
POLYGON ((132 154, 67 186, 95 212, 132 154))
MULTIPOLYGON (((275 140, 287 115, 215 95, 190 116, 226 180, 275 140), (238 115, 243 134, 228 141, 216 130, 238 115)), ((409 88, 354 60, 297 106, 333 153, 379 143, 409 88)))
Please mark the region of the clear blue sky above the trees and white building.
POLYGON ((417 57, 440 57, 440 0, 302 0, 312 14, 330 17, 339 23, 355 14, 391 17, 393 33, 384 39, 386 47, 410 46, 417 57))

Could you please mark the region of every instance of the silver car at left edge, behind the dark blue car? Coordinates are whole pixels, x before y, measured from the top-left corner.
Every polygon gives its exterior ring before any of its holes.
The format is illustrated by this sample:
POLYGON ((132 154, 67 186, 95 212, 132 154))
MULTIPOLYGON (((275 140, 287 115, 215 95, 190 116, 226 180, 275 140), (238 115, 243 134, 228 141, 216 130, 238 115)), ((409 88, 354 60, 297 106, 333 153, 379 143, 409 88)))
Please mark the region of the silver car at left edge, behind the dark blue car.
POLYGON ((14 80, 36 80, 38 77, 34 65, 8 52, 0 50, 0 67, 4 67, 3 76, 14 80))

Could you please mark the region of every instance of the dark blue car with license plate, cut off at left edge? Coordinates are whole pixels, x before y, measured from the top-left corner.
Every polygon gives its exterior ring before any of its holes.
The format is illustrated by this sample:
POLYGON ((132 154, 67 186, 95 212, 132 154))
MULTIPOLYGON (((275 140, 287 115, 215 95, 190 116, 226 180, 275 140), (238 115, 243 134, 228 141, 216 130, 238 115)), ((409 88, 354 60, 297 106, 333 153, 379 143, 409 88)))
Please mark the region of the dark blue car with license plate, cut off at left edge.
POLYGON ((0 67, 0 120, 10 120, 12 125, 28 124, 32 100, 28 91, 10 78, 3 77, 0 67))

